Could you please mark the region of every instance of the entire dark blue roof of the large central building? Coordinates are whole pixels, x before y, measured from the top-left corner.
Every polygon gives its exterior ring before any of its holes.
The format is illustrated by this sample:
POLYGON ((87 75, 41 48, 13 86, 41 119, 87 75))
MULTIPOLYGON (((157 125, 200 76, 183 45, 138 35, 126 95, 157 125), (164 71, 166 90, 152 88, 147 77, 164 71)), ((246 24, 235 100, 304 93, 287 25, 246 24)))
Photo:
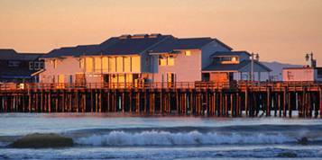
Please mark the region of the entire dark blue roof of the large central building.
POLYGON ((176 49, 201 49, 208 43, 216 41, 231 49, 223 42, 211 38, 177 39, 171 35, 142 34, 112 37, 101 44, 84 45, 53 49, 42 58, 57 58, 82 55, 133 55, 146 52, 171 52, 176 49))

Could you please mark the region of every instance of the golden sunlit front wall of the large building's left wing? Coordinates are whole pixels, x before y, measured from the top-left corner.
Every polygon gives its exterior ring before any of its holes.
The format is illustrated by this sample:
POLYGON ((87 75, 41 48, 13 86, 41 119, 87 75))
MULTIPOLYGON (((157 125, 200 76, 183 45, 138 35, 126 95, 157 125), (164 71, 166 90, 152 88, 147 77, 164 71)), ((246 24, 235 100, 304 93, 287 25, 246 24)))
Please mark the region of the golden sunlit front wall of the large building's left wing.
POLYGON ((45 71, 40 74, 40 82, 75 83, 76 74, 86 74, 87 83, 101 83, 103 82, 102 74, 139 74, 141 73, 141 64, 141 59, 137 55, 122 57, 60 58, 57 59, 57 67, 54 67, 53 59, 46 59, 45 71), (107 59, 103 60, 104 58, 107 59), (127 58, 127 60, 125 60, 125 58, 127 58))

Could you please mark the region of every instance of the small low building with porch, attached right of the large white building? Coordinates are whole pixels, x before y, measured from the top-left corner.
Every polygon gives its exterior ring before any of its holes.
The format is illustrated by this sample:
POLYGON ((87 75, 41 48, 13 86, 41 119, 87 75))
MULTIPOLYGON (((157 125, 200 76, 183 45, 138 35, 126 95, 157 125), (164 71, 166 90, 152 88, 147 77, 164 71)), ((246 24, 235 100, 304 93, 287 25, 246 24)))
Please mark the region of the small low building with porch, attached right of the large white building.
MULTIPOLYGON (((234 80, 255 80, 253 73, 258 73, 257 80, 261 81, 261 73, 269 73, 271 69, 264 66, 258 59, 252 59, 247 51, 215 52, 211 55, 212 63, 202 69, 203 76, 211 82, 232 82, 234 80)), ((269 76, 268 76, 269 77, 269 76)))

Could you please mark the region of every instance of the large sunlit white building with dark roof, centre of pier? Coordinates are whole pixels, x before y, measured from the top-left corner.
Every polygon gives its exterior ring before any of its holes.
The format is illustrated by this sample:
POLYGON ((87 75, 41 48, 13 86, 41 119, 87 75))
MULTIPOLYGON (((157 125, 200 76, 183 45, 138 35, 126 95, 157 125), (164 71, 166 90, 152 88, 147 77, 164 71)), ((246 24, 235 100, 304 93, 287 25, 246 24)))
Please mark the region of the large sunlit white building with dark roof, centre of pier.
POLYGON ((42 58, 41 83, 134 83, 201 81, 216 51, 230 51, 211 38, 171 35, 113 37, 98 45, 53 49, 42 58))

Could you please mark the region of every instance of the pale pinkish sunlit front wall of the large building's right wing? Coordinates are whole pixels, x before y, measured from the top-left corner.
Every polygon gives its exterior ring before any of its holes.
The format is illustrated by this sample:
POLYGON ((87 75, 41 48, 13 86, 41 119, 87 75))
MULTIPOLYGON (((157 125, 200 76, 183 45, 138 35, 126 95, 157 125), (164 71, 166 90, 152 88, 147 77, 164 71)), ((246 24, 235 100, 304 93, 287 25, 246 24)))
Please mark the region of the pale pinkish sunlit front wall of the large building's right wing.
POLYGON ((154 82, 167 81, 167 73, 176 75, 177 82, 194 82, 201 81, 201 50, 190 50, 191 55, 185 56, 182 50, 176 58, 174 58, 174 66, 159 66, 158 57, 154 56, 155 74, 153 74, 154 82), (155 62, 156 61, 156 62, 155 62))

